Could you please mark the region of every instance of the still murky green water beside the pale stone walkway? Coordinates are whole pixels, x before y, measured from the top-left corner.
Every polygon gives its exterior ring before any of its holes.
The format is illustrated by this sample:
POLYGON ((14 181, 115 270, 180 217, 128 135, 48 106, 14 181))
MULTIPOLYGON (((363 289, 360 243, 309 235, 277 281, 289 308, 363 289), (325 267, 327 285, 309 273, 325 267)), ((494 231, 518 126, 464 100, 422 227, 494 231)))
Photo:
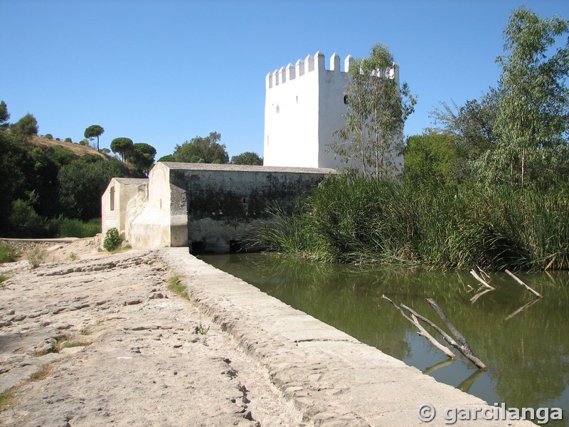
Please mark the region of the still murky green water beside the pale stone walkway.
POLYGON ((569 426, 568 272, 519 274, 542 300, 508 275, 492 274, 496 290, 471 302, 479 287, 468 273, 323 265, 264 254, 201 259, 489 404, 563 408, 563 421, 548 425, 569 426), (447 360, 382 294, 442 326, 425 301, 433 298, 489 370, 464 358, 447 360))

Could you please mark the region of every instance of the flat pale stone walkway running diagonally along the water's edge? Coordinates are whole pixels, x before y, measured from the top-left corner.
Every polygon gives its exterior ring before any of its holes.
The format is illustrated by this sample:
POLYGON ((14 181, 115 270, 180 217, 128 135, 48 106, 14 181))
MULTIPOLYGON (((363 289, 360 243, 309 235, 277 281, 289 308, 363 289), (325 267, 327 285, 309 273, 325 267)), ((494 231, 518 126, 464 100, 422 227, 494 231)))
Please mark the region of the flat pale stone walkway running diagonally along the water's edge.
MULTIPOLYGON (((447 426, 446 408, 499 409, 198 260, 188 248, 163 248, 159 256, 184 276, 191 302, 267 369, 314 426, 447 426), (419 421, 421 404, 434 406, 434 421, 419 421)), ((454 425, 534 425, 480 417, 454 425)))

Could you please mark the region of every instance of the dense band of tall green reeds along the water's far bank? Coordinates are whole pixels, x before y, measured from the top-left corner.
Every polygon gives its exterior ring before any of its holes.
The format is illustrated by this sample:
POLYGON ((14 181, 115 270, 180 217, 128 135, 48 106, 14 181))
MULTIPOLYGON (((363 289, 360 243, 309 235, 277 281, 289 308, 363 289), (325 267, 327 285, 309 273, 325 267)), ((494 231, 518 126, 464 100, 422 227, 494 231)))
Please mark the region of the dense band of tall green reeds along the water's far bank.
POLYGON ((296 211, 272 206, 270 213, 252 241, 312 260, 442 270, 569 268, 564 182, 522 191, 339 174, 324 180, 296 211))

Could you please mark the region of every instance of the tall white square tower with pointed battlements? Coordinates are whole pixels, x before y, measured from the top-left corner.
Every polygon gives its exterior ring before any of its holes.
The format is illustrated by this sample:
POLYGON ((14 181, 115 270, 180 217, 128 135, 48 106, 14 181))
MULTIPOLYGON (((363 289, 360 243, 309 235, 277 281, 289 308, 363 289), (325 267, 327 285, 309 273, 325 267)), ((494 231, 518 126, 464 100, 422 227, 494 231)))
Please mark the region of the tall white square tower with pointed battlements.
MULTIPOLYGON (((346 124, 346 84, 353 64, 351 55, 340 70, 337 53, 326 58, 321 52, 307 56, 273 73, 265 81, 265 144, 263 164, 284 167, 330 167, 345 164, 329 149, 334 132, 346 124)), ((391 70, 399 81, 397 65, 391 70)))

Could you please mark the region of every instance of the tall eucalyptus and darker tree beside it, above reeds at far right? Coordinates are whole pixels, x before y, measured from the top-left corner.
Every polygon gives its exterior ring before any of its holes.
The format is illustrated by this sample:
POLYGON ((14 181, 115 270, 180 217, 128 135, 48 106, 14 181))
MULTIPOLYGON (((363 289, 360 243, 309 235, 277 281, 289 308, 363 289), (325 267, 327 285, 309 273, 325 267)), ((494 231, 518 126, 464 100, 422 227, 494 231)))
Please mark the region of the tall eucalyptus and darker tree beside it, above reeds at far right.
POLYGON ((521 7, 504 30, 496 88, 431 112, 425 132, 454 138, 457 179, 548 186, 569 172, 569 20, 521 7))

